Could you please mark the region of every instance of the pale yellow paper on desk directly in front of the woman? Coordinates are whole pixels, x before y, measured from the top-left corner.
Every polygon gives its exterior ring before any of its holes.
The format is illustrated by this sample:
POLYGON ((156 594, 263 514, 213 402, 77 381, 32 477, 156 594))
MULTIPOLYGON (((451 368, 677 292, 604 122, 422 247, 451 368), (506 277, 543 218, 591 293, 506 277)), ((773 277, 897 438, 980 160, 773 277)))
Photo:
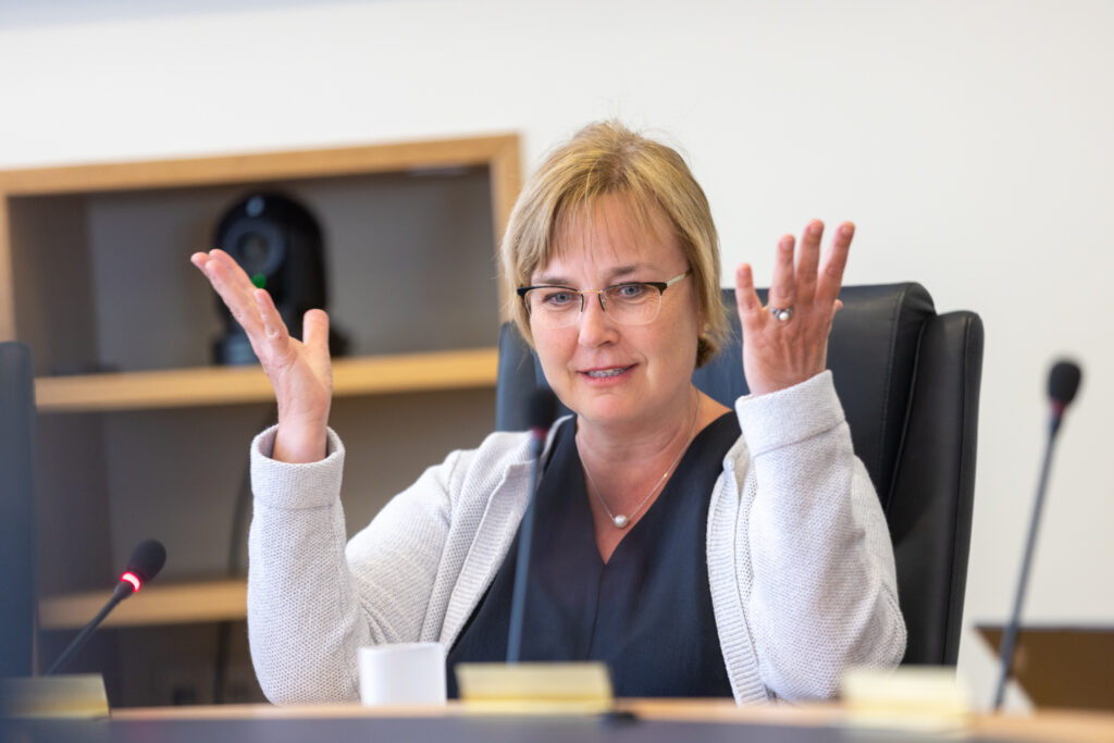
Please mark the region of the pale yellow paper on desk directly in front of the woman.
POLYGON ((490 714, 598 714, 615 697, 603 663, 460 663, 465 708, 490 714))

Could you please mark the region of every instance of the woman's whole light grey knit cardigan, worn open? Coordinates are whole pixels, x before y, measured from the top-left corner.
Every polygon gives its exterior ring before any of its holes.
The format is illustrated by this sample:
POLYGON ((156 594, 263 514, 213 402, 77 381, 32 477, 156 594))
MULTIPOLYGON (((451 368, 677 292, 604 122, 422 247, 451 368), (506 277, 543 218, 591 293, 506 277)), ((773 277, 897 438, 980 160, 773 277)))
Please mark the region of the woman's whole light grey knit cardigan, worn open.
MULTIPOLYGON (((831 373, 741 398, 707 519, 716 629, 735 700, 828 698, 852 665, 896 665, 893 550, 831 373)), ((555 427, 556 428, 556 427, 555 427)), ((252 446, 252 659, 275 703, 358 698, 356 648, 449 647, 502 565, 529 491, 527 434, 492 433, 395 496, 345 547, 344 447, 311 465, 252 446)), ((668 642, 663 637, 662 642, 668 642)))

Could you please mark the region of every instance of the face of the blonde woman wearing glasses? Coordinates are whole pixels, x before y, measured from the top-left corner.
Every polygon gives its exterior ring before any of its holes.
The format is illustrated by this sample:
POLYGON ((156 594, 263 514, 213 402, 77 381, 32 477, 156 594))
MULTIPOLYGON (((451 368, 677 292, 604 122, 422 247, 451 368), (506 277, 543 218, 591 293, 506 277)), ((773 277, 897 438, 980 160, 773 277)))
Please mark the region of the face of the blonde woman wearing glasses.
MULTIPOLYGON (((530 283, 604 289, 684 273, 688 263, 668 222, 656 209, 652 219, 656 229, 643 231, 622 196, 604 197, 590 221, 558 236, 556 257, 530 283)), ((691 416, 700 324, 687 276, 665 291, 661 312, 646 325, 614 322, 597 295, 587 294, 575 324, 553 329, 531 317, 530 331, 546 379, 582 424, 632 428, 691 416)))

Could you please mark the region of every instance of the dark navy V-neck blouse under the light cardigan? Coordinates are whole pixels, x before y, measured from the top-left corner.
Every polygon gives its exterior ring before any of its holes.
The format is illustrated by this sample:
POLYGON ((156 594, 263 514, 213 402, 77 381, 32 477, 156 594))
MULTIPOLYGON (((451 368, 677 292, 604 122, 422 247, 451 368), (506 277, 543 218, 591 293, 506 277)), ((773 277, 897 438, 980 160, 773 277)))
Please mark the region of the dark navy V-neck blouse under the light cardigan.
MULTIPOLYGON (((522 661, 603 661, 616 696, 731 696, 707 578, 707 510, 739 439, 724 413, 701 431, 665 489, 604 563, 593 536, 576 426, 557 431, 535 505, 522 661)), ((501 662, 518 537, 448 655, 501 662)))

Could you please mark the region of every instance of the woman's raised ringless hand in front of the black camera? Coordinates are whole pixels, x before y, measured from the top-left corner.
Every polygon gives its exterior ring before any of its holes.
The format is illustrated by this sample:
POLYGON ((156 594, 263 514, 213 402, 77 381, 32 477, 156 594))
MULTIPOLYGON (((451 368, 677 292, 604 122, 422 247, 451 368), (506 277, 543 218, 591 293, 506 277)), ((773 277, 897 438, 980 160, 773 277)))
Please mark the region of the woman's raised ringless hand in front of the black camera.
POLYGON ((194 253, 189 261, 205 274, 247 333, 274 388, 278 431, 272 458, 284 462, 324 459, 333 393, 329 315, 323 310, 306 312, 304 342, 299 341, 291 338, 271 295, 256 289, 231 255, 213 250, 194 253))

